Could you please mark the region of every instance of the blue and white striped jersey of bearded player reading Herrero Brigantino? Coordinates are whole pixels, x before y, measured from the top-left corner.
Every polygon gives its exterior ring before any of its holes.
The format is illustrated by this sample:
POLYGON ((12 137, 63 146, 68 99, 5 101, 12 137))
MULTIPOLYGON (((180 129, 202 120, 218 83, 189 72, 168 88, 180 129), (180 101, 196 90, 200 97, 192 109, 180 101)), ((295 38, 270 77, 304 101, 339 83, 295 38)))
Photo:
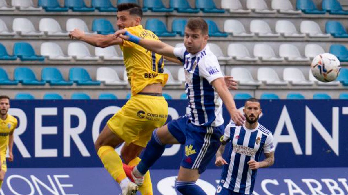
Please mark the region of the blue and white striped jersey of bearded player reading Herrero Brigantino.
POLYGON ((274 151, 272 133, 261 124, 247 129, 245 125, 236 126, 231 122, 225 128, 223 140, 231 141, 231 148, 220 183, 234 192, 252 194, 257 170, 251 170, 247 162, 258 162, 262 153, 274 151))

